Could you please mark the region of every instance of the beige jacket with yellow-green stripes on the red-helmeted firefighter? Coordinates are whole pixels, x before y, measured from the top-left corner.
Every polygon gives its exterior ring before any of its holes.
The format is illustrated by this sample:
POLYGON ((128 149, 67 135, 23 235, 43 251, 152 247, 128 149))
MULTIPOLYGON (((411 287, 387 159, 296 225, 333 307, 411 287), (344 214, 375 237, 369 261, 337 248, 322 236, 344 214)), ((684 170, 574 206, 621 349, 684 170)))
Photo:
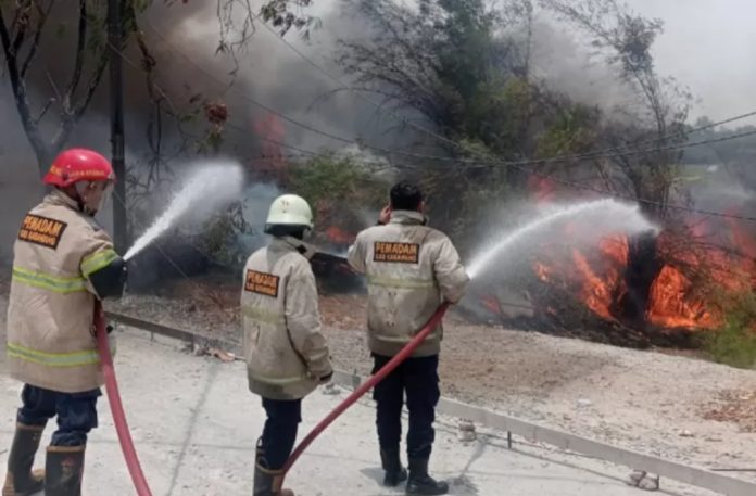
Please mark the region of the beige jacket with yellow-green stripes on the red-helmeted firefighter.
POLYGON ((108 233, 60 191, 24 218, 8 306, 11 376, 62 393, 102 385, 89 277, 118 256, 108 233))

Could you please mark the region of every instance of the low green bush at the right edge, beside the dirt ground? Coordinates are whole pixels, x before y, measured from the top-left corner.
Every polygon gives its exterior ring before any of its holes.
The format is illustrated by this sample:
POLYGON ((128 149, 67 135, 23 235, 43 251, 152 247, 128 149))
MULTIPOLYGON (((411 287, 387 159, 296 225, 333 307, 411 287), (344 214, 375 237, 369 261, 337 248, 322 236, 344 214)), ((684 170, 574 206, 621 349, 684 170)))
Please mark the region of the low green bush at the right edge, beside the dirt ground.
POLYGON ((704 339, 704 349, 711 359, 732 367, 756 366, 756 293, 747 291, 723 298, 724 323, 704 339))

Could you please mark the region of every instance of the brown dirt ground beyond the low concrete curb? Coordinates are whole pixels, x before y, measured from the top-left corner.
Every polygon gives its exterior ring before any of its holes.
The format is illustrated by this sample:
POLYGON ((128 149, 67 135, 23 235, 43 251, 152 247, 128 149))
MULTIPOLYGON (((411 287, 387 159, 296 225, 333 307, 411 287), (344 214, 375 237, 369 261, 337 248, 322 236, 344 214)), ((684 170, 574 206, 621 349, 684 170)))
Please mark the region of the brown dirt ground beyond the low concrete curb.
MULTIPOLYGON (((110 309, 240 342, 232 291, 202 297, 188 293, 178 298, 130 295, 110 309)), ((336 366, 368 373, 364 297, 324 296, 322 313, 336 366)), ((677 461, 756 469, 755 371, 469 326, 452 313, 445 320, 440 376, 448 397, 677 461)), ((756 480, 751 472, 740 476, 756 480)))

